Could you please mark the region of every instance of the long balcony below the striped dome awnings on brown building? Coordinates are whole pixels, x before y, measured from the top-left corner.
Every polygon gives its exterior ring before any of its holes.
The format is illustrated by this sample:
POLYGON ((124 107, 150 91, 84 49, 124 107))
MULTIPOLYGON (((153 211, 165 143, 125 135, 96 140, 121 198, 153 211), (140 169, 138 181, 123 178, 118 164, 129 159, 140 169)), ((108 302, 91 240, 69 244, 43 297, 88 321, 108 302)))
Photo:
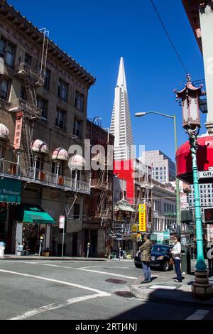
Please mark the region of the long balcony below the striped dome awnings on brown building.
POLYGON ((90 193, 88 182, 58 176, 48 171, 40 171, 37 168, 21 168, 17 163, 4 159, 0 159, 0 177, 2 176, 65 191, 77 191, 85 194, 90 193))

